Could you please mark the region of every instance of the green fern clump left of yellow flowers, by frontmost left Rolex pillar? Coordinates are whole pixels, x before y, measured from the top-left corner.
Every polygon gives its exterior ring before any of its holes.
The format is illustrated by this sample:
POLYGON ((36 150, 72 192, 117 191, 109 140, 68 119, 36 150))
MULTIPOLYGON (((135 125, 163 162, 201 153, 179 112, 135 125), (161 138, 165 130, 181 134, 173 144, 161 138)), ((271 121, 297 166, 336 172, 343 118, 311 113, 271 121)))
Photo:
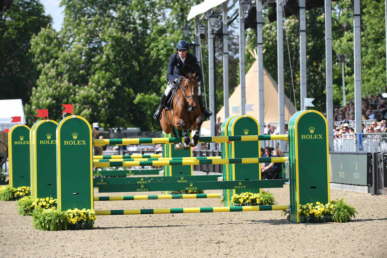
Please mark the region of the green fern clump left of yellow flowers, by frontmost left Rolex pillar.
POLYGON ((35 209, 32 213, 32 224, 39 230, 67 230, 67 219, 64 213, 53 209, 35 209))

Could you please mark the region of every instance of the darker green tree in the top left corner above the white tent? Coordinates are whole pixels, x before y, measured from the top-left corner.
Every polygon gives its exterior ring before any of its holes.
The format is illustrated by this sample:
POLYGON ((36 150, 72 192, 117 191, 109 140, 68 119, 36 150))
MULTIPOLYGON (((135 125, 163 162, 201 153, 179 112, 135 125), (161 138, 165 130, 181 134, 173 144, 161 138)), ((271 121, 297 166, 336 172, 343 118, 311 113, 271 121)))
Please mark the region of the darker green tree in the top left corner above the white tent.
POLYGON ((51 23, 38 0, 15 0, 0 15, 1 99, 22 99, 28 103, 39 76, 29 54, 30 39, 51 23))

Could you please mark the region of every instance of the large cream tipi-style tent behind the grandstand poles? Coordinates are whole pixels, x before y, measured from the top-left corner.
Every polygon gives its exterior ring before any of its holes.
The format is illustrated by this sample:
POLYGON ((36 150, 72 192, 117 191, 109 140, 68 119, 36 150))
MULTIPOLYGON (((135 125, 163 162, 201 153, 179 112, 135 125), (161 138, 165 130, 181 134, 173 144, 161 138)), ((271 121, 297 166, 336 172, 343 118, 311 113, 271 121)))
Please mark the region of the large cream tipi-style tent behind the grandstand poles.
MULTIPOLYGON (((246 115, 254 117, 258 121, 259 117, 259 98, 258 98, 258 65, 257 60, 252 64, 246 73, 246 104, 253 104, 254 111, 247 111, 246 115)), ((263 100, 264 100, 264 121, 274 126, 278 125, 278 85, 270 74, 263 69, 263 100)), ((229 114, 240 115, 232 112, 232 107, 241 106, 241 87, 237 86, 229 98, 229 114)), ((240 112, 240 109, 239 109, 240 112)), ((296 107, 285 96, 285 121, 289 121, 292 115, 296 113, 296 107)), ((224 121, 224 107, 216 114, 216 117, 224 121)), ((210 121, 203 122, 202 128, 210 128, 210 121)))

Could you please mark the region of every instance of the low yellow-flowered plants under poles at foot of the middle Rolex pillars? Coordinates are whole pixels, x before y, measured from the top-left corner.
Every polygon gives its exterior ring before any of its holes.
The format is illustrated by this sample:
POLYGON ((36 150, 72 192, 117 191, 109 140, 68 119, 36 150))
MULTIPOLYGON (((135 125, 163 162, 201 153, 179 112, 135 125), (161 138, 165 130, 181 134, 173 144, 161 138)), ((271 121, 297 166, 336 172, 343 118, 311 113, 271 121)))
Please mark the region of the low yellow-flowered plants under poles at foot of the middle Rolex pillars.
POLYGON ((274 195, 269 192, 264 192, 260 194, 253 193, 241 193, 234 194, 231 197, 231 202, 235 206, 256 206, 256 205, 274 205, 276 204, 274 200, 274 195))

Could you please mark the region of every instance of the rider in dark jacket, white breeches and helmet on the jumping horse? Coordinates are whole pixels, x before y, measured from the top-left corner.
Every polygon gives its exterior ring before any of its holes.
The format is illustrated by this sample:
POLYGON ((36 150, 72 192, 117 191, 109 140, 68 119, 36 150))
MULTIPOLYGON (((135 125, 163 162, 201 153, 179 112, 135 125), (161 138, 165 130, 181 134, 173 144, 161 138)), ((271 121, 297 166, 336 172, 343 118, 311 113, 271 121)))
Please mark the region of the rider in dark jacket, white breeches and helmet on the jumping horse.
MULTIPOLYGON (((161 119, 161 111, 165 106, 165 100, 172 89, 172 84, 181 84, 180 78, 183 76, 183 71, 185 72, 196 72, 196 79, 198 82, 202 79, 202 71, 200 69, 198 59, 195 55, 188 53, 189 44, 185 40, 181 40, 177 42, 176 45, 177 52, 171 55, 168 63, 168 71, 167 71, 167 80, 171 83, 168 83, 165 92, 161 96, 160 105, 157 107, 156 112, 153 115, 154 119, 161 119)), ((205 109, 203 105, 203 96, 201 95, 200 85, 199 85, 199 104, 200 109, 203 112, 205 118, 209 118, 212 115, 212 112, 205 109)))

